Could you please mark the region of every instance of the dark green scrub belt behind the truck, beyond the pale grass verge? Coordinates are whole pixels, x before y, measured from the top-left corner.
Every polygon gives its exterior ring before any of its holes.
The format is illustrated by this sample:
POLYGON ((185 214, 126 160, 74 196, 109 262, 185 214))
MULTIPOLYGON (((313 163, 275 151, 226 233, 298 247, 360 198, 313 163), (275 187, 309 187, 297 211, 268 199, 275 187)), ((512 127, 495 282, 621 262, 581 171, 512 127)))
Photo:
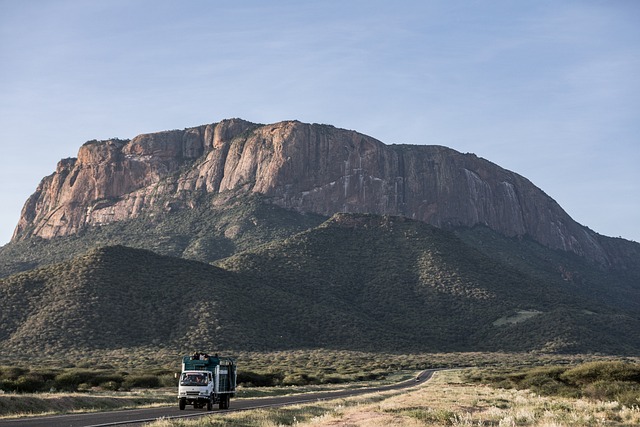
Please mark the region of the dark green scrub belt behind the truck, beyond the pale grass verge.
MULTIPOLYGON (((0 392, 131 391, 177 387, 181 354, 152 348, 93 352, 81 350, 57 358, 0 358, 0 392)), ((582 355, 528 353, 370 353, 340 350, 229 352, 239 364, 238 384, 245 388, 292 387, 385 381, 398 372, 428 368, 580 364, 582 355)), ((597 360, 614 360, 598 357, 597 360)), ((493 371, 492 371, 493 372, 493 371)), ((495 371, 498 372, 498 371, 495 371)))

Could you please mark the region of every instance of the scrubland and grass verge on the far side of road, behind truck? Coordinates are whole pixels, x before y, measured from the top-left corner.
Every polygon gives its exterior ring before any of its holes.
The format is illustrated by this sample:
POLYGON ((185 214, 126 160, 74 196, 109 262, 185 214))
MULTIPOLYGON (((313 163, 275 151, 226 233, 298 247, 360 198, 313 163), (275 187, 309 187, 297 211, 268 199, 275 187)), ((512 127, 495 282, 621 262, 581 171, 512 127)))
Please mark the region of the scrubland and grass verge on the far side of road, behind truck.
MULTIPOLYGON (((180 352, 126 348, 55 358, 0 355, 0 417, 112 410, 175 403, 180 352), (150 377, 150 373, 153 376, 150 377), (155 380, 155 381, 152 381, 155 380), (55 390, 51 392, 51 390, 55 390)), ((390 354, 295 350, 230 352, 240 364, 239 398, 359 388, 406 379, 423 367, 503 366, 508 354, 390 354)), ((531 356, 517 357, 533 363, 531 356)), ((554 361, 576 361, 552 356, 554 361)))

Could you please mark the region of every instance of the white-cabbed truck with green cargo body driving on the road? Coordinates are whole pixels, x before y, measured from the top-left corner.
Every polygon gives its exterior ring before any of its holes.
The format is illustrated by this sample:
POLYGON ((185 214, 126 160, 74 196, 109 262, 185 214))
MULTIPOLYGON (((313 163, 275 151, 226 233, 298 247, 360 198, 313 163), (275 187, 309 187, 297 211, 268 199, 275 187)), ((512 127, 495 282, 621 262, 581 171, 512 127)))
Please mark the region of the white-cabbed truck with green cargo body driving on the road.
POLYGON ((236 393, 236 361, 232 357, 196 352, 182 357, 182 372, 178 383, 178 406, 187 405, 207 411, 218 404, 220 409, 229 408, 229 400, 236 393))

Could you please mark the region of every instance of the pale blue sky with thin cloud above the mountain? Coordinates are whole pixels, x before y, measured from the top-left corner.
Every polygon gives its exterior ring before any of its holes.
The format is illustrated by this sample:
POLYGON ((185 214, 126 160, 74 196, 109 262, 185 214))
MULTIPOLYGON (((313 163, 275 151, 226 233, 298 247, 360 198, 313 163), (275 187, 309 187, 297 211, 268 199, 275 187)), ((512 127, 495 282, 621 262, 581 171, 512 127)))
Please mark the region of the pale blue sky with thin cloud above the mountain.
POLYGON ((89 140, 239 117, 444 145, 640 241, 640 1, 0 0, 0 245, 89 140))

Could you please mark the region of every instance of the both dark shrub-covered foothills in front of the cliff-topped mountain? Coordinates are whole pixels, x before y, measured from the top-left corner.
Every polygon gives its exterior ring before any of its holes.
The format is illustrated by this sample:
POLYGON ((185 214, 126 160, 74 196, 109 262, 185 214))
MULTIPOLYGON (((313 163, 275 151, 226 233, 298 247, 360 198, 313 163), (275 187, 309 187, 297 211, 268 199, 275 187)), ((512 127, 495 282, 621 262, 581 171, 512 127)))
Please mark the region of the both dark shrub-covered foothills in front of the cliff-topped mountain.
MULTIPOLYGON (((533 241, 524 246, 543 250, 533 241)), ((557 256, 567 261, 566 253, 557 256)), ((0 279, 0 345, 16 354, 187 351, 212 343, 235 350, 640 349, 637 307, 576 292, 557 271, 534 271, 549 277, 498 262, 423 222, 339 214, 216 266, 113 246, 0 279)))

